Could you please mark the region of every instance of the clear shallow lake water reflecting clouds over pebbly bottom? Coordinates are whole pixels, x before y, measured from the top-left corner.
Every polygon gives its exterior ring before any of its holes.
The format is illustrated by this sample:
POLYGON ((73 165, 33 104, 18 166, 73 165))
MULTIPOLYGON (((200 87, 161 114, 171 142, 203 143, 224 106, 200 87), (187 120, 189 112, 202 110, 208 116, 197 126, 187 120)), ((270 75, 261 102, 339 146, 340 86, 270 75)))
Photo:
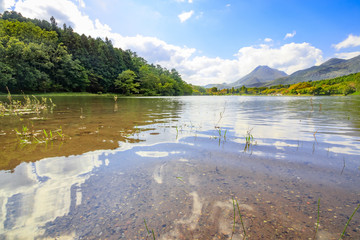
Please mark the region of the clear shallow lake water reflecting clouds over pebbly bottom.
POLYGON ((53 101, 0 117, 0 239, 309 239, 318 206, 338 239, 360 203, 359 97, 53 101))

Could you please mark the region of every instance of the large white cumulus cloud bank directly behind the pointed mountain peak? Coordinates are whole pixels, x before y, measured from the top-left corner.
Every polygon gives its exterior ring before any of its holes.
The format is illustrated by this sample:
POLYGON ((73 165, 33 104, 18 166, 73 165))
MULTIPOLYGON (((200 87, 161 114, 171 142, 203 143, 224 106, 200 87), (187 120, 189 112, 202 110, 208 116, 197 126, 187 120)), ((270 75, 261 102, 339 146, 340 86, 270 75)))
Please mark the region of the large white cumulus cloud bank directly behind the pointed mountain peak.
POLYGON ((198 84, 235 82, 259 65, 267 65, 291 74, 321 64, 322 51, 309 43, 289 43, 280 47, 267 44, 243 47, 234 59, 197 56, 185 59, 176 66, 184 79, 198 84))

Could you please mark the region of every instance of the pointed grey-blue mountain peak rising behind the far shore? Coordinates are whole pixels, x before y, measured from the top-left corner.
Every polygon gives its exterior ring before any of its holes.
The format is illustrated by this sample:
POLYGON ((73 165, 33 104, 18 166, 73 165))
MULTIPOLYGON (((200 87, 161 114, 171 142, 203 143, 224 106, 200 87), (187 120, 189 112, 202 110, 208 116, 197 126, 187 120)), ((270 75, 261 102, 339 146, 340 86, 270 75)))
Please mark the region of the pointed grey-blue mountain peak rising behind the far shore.
POLYGON ((230 87, 239 88, 259 87, 275 79, 288 76, 285 72, 270 68, 268 66, 258 66, 251 73, 242 77, 234 83, 229 84, 230 87))

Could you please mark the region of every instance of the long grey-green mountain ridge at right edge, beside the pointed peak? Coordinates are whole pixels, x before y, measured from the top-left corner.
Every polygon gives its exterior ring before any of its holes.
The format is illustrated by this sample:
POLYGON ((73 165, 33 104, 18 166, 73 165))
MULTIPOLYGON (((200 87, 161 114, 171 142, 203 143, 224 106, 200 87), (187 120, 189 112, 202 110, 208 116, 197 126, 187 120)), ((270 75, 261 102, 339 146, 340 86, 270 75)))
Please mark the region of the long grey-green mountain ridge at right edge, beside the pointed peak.
POLYGON ((360 55, 349 60, 332 58, 319 66, 294 72, 288 77, 276 79, 265 86, 293 84, 298 82, 317 81, 336 78, 360 72, 360 55))

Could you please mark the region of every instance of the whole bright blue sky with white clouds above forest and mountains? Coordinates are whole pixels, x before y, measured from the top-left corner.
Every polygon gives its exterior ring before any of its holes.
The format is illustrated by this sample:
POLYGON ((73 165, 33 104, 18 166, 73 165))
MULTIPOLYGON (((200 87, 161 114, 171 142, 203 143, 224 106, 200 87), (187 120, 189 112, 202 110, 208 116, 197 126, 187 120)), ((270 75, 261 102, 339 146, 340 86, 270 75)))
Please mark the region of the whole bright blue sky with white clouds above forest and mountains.
POLYGON ((360 1, 2 0, 0 10, 67 23, 187 82, 234 82, 258 65, 291 74, 360 55, 360 1))

